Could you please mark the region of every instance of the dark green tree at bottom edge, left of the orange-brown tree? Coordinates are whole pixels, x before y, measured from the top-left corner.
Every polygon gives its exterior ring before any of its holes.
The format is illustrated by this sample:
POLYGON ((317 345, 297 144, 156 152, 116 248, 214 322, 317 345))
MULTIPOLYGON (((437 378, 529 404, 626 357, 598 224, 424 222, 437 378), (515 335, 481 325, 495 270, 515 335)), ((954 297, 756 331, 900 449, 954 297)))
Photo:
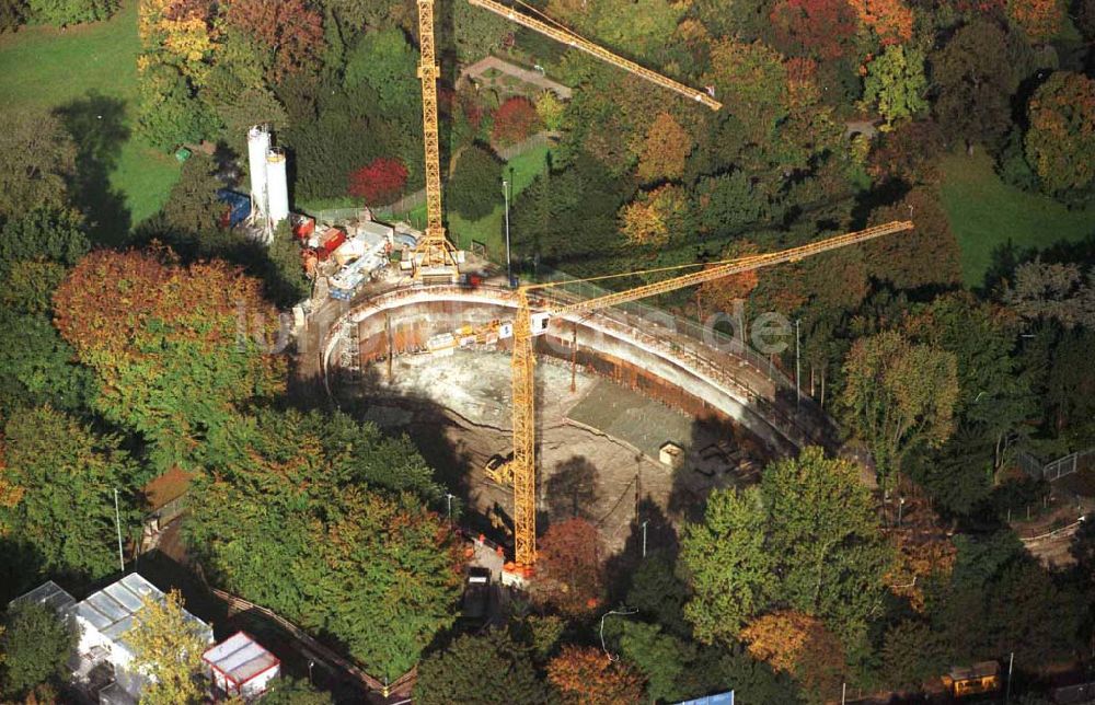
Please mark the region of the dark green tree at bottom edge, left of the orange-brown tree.
POLYGON ((418 666, 414 698, 422 705, 551 702, 527 650, 503 629, 458 637, 418 666))

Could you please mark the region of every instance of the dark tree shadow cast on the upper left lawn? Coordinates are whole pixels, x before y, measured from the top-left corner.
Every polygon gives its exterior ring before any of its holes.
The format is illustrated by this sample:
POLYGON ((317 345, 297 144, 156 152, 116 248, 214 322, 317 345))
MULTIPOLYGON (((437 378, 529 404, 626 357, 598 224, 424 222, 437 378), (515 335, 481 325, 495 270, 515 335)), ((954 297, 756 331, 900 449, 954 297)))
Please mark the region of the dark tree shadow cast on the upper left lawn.
POLYGON ((96 91, 56 111, 77 145, 77 170, 69 184, 73 204, 88 217, 93 243, 117 246, 128 238, 131 217, 111 185, 122 146, 129 139, 124 101, 96 91))

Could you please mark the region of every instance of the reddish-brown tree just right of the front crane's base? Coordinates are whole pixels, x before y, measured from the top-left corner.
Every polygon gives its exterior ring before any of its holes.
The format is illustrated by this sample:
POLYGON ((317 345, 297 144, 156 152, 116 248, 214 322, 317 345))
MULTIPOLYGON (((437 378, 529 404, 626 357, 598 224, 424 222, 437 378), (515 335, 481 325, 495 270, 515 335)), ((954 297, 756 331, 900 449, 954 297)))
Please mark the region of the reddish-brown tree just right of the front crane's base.
POLYGON ((603 599, 597 529, 585 519, 552 524, 539 542, 541 598, 566 614, 583 614, 603 599))

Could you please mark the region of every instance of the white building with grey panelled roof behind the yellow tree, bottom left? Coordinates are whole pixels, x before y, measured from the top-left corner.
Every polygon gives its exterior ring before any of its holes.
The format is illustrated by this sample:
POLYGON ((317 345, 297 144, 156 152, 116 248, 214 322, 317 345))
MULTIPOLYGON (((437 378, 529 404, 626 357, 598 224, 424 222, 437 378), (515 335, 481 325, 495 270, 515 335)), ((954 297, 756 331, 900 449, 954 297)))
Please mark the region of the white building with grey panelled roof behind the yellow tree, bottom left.
MULTIPOLYGON (((140 701, 147 679, 132 667, 135 652, 127 635, 145 597, 157 601, 164 599, 163 591, 139 574, 131 573, 76 604, 81 661, 77 673, 91 673, 104 667, 114 672, 114 683, 100 691, 100 703, 140 701)), ((185 612, 185 616, 200 625, 206 644, 212 644, 212 627, 189 612, 185 612)))

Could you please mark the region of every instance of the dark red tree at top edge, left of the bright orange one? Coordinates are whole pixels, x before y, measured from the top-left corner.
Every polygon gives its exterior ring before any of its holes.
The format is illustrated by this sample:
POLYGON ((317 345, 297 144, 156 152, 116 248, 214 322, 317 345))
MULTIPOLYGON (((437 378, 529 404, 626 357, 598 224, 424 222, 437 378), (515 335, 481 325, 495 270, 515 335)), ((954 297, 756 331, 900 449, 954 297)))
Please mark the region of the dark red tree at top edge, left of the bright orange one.
POLYGON ((822 61, 843 56, 858 27, 848 0, 780 0, 769 19, 781 50, 822 61))

